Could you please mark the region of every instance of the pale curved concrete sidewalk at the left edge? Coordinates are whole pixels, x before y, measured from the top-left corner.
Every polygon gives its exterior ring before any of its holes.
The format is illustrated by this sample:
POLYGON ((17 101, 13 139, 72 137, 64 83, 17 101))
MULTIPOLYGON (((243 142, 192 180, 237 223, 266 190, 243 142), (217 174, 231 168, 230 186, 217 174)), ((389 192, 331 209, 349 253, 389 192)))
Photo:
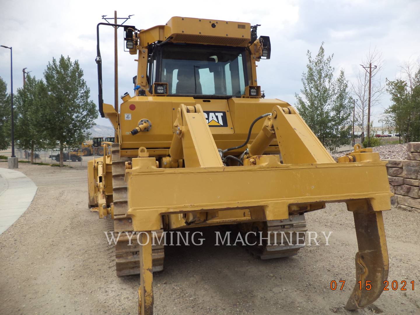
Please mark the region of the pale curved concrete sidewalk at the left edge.
POLYGON ((0 234, 28 209, 37 189, 23 173, 0 168, 0 234))

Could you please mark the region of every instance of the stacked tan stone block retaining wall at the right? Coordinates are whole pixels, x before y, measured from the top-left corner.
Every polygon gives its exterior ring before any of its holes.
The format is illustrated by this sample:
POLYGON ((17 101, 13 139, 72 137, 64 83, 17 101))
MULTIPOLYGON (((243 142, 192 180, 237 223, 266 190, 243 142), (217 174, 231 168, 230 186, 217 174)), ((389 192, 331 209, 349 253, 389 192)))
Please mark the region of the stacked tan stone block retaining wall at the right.
POLYGON ((420 142, 407 145, 407 160, 388 160, 386 164, 391 204, 399 210, 420 213, 420 142))

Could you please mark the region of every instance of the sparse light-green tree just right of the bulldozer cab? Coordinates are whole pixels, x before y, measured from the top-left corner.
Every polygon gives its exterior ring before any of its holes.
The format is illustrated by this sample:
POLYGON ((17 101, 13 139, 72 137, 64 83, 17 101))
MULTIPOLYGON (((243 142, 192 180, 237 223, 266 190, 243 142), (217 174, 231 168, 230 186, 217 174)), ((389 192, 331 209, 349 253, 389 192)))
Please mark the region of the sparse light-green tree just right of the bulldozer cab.
POLYGON ((296 107, 320 142, 336 151, 337 147, 349 144, 353 102, 344 71, 340 71, 336 80, 333 78, 333 55, 325 58, 323 45, 315 58, 307 51, 307 72, 302 74, 301 95, 295 94, 296 107))

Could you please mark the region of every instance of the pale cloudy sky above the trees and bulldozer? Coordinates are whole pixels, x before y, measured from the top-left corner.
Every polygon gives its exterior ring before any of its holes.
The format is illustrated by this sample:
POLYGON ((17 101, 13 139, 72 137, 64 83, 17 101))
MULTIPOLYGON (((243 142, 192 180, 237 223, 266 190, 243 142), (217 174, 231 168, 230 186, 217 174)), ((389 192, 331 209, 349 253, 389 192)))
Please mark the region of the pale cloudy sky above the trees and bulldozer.
MULTIPOLYGON (((258 64, 258 84, 266 98, 278 98, 294 105, 302 88, 307 50, 312 56, 324 42, 325 55, 334 54, 335 74, 344 69, 346 79, 355 82, 360 63, 369 49, 383 55, 380 74, 385 79, 400 77, 407 60, 420 56, 420 1, 46 1, 0 0, 0 45, 13 47, 13 89, 23 85, 22 69, 42 78, 53 57, 79 60, 91 99, 97 104, 96 24, 102 15, 131 16, 127 25, 138 29, 165 24, 172 16, 249 22, 258 36, 270 36, 271 59, 258 64)), ((123 30, 118 31, 118 94, 133 95, 135 55, 123 52, 123 30)), ((113 29, 101 29, 104 102, 113 104, 113 29)), ((10 91, 10 50, 0 48, 0 76, 10 91)), ((390 104, 389 95, 372 109, 374 126, 390 104)), ((97 124, 110 126, 105 118, 97 124)))

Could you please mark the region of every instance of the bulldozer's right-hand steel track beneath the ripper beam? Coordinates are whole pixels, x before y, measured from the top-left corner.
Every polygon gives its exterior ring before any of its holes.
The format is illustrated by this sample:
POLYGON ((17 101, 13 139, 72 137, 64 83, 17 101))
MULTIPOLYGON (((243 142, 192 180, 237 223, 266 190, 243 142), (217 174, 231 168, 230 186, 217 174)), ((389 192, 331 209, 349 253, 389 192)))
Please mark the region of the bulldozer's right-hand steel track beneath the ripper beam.
MULTIPOLYGON (((254 224, 252 226, 249 225, 241 225, 241 233, 242 236, 245 237, 245 234, 249 231, 257 232, 257 237, 253 234, 249 234, 248 240, 249 243, 252 244, 255 241, 257 242, 256 245, 247 245, 247 250, 254 256, 259 257, 260 259, 273 259, 273 258, 280 258, 280 257, 290 257, 297 255, 299 249, 304 247, 305 245, 296 245, 297 244, 297 233, 296 232, 306 232, 306 221, 305 215, 290 215, 289 219, 286 220, 273 220, 273 221, 266 221, 266 222, 259 222, 260 224, 254 224), (262 224, 261 224, 262 223, 262 224), (259 232, 262 232, 262 237, 266 238, 268 236, 268 232, 270 232, 270 244, 266 240, 262 241, 262 245, 260 244, 260 236, 259 232), (277 232, 277 237, 275 239, 274 233, 277 232), (283 244, 281 244, 281 232, 284 232, 283 236, 283 244), (290 234, 291 240, 290 240, 290 234), (287 238, 287 240, 286 240, 287 238), (288 242, 289 241, 289 242, 288 242), (290 243, 291 245, 289 245, 290 243)), ((300 235, 299 243, 303 244, 304 239, 302 239, 302 235, 300 235)))

